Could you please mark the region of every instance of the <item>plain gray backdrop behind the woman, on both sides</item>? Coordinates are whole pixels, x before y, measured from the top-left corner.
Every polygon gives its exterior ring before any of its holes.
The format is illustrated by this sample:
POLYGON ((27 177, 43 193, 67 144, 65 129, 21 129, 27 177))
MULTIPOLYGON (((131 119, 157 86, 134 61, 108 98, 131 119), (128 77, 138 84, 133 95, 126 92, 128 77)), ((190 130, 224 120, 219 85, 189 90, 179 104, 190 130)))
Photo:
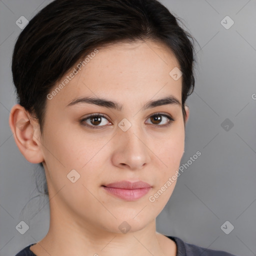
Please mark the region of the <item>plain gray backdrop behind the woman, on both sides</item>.
MULTIPOLYGON (((19 152, 8 116, 16 103, 10 65, 21 29, 15 21, 21 15, 30 20, 49 2, 0 0, 0 256, 14 255, 48 230, 48 201, 37 196, 35 185, 40 169, 19 152), (21 220, 29 225, 24 234, 15 229, 21 220)), ((157 231, 211 249, 256 255, 256 1, 161 2, 181 17, 201 47, 195 44, 196 84, 187 100, 190 117, 180 165, 197 150, 201 155, 178 177, 156 219, 157 231), (226 15, 234 21, 229 29, 220 23, 226 15), (229 130, 225 122, 221 126, 226 118, 234 124, 229 130), (234 226, 229 234, 220 228, 226 220, 234 226)))

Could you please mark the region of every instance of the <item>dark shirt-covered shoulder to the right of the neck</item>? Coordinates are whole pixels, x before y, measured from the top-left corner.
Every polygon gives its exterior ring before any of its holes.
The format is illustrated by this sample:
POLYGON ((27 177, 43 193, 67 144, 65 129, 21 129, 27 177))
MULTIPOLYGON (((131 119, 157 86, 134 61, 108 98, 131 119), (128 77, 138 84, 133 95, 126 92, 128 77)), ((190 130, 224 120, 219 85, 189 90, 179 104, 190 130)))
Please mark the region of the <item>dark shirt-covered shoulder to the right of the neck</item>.
POLYGON ((167 237, 173 240, 177 245, 176 256, 236 256, 226 251, 208 249, 195 244, 187 243, 175 236, 167 237))

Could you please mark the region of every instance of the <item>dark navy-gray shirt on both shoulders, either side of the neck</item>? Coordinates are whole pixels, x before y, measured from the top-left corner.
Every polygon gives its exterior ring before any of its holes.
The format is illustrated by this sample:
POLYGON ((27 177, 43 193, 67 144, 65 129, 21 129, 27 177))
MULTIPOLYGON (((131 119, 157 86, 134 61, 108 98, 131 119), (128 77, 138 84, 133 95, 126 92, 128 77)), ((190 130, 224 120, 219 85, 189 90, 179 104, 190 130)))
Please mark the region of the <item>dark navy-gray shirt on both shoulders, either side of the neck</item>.
MULTIPOLYGON (((167 235, 165 235, 167 236, 167 235)), ((204 247, 200 247, 194 244, 186 243, 178 237, 167 236, 173 240, 177 245, 176 256, 236 256, 234 254, 222 251, 222 250, 212 250, 204 247)), ((29 247, 35 243, 27 245, 25 248, 20 250, 15 256, 36 256, 29 247)))

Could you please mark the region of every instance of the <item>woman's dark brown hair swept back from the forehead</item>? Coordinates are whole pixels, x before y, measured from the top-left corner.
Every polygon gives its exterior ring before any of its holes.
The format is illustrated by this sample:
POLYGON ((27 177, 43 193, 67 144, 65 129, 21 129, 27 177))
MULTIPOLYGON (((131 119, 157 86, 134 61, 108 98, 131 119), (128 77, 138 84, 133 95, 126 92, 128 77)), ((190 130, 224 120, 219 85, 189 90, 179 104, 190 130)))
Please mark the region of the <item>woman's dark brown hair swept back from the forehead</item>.
POLYGON ((11 68, 18 103, 38 120, 42 134, 46 96, 77 61, 107 44, 153 40, 164 43, 179 62, 185 118, 185 101, 194 88, 194 38, 177 21, 157 0, 52 1, 15 43, 11 68))

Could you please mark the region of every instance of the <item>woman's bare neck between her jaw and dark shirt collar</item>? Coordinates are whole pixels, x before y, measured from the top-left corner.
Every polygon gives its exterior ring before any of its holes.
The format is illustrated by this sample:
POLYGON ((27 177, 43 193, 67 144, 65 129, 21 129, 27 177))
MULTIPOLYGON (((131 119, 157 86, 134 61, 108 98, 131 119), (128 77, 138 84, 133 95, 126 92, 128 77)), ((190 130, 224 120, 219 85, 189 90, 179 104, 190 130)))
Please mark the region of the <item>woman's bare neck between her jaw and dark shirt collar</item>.
POLYGON ((171 255, 169 247, 168 253, 165 254, 166 240, 164 245, 163 235, 156 232, 155 219, 140 230, 122 233, 110 232, 102 226, 74 218, 74 215, 71 217, 67 211, 61 212, 50 211, 48 233, 37 244, 31 246, 31 250, 36 255, 65 256, 74 253, 79 256, 171 255))

